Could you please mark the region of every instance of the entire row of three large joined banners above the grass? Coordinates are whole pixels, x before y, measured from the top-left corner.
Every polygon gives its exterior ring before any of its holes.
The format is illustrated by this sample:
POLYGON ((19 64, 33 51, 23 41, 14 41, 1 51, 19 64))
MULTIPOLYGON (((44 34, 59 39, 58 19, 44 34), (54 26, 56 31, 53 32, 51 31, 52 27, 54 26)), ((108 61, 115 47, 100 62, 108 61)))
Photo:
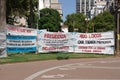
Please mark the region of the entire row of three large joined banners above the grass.
MULTIPOLYGON (((114 32, 63 33, 7 26, 7 52, 114 54, 114 32)), ((2 40, 2 37, 0 37, 2 40)), ((3 42, 1 42, 3 43, 3 42)))

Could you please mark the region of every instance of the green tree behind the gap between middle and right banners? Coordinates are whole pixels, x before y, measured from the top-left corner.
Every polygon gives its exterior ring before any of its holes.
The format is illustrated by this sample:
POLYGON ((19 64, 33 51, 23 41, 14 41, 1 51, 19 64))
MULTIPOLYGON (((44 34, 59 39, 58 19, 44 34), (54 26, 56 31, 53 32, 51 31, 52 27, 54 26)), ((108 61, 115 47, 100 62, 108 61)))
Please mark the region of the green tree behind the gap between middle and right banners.
POLYGON ((73 13, 67 15, 64 24, 68 25, 68 29, 70 32, 73 31, 86 32, 85 16, 82 13, 73 13))

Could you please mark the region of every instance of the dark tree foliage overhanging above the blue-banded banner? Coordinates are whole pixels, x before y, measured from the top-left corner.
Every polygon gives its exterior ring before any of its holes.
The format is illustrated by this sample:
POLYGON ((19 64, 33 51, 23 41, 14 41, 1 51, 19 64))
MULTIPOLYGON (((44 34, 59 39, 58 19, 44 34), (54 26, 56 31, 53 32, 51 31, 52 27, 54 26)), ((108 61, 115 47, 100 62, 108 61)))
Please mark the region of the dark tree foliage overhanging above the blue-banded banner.
POLYGON ((8 24, 16 23, 16 17, 25 17, 30 27, 36 26, 38 0, 7 0, 6 7, 8 24))

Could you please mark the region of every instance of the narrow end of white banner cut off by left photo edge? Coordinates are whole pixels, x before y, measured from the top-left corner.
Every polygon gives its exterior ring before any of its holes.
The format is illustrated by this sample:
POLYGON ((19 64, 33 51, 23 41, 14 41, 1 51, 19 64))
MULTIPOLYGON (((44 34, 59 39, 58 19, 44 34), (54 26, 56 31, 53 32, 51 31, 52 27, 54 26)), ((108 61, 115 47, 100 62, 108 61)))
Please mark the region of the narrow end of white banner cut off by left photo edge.
POLYGON ((0 31, 0 58, 7 57, 6 53, 6 32, 0 31))

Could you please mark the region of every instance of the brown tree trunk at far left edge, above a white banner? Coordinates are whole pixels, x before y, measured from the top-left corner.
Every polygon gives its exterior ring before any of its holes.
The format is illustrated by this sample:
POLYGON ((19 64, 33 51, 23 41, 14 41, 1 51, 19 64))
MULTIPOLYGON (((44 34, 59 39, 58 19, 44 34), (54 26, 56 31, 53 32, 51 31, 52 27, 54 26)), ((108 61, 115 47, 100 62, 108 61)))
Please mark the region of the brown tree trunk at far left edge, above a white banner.
POLYGON ((6 25, 6 0, 0 0, 0 30, 4 30, 6 25))

